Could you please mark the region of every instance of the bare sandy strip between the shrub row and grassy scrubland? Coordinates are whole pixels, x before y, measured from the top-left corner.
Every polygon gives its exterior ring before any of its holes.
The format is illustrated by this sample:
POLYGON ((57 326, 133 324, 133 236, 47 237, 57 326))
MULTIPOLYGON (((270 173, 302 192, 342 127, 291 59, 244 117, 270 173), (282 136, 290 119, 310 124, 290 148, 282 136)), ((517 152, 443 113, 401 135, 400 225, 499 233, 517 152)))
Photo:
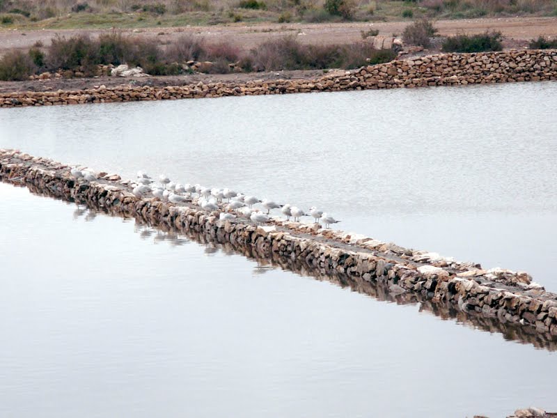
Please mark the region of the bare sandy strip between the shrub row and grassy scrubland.
MULTIPOLYGON (((221 26, 187 26, 178 28, 125 29, 134 36, 157 37, 160 42, 168 43, 183 33, 201 36, 209 42, 233 42, 242 49, 249 50, 263 40, 285 35, 296 35, 301 42, 312 44, 349 43, 361 40, 361 31, 379 29, 379 35, 400 34, 409 22, 348 22, 329 24, 229 24, 221 26)), ((473 20, 439 20, 435 22, 441 36, 455 33, 480 33, 486 30, 501 31, 508 42, 521 42, 540 35, 557 36, 557 17, 499 17, 473 20)), ((98 36, 110 29, 49 29, 39 31, 0 31, 0 54, 6 49, 27 48, 38 40, 44 45, 59 33, 72 36, 88 33, 98 36)))

